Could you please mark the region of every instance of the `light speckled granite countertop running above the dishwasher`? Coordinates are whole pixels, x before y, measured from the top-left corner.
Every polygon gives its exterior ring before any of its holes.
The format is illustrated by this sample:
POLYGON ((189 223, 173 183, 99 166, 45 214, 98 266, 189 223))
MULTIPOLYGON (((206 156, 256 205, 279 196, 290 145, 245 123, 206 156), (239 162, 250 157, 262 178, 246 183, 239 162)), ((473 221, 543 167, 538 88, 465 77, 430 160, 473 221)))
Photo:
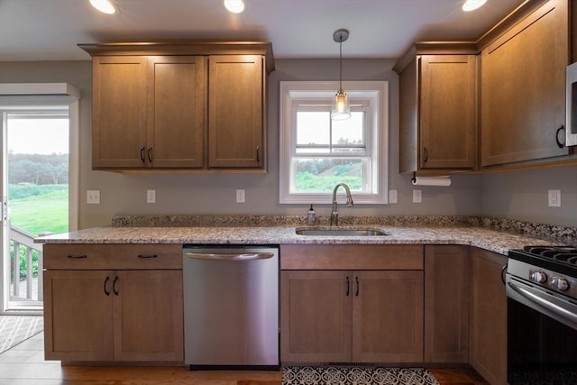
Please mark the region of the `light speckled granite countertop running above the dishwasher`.
MULTIPOLYGON (((364 225, 388 235, 298 235, 306 226, 126 226, 95 227, 37 238, 35 243, 196 243, 196 244, 463 244, 507 255, 509 249, 551 241, 478 226, 364 225)), ((342 226, 359 228, 359 225, 342 226)))

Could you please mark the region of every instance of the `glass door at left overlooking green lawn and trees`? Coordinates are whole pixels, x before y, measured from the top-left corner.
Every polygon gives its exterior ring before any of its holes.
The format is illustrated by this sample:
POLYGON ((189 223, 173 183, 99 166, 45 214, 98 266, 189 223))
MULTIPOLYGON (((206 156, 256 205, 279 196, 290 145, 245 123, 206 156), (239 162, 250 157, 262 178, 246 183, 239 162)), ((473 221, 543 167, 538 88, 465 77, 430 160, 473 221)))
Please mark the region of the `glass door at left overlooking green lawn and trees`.
POLYGON ((2 112, 2 276, 6 310, 41 310, 42 245, 69 231, 69 105, 2 112))

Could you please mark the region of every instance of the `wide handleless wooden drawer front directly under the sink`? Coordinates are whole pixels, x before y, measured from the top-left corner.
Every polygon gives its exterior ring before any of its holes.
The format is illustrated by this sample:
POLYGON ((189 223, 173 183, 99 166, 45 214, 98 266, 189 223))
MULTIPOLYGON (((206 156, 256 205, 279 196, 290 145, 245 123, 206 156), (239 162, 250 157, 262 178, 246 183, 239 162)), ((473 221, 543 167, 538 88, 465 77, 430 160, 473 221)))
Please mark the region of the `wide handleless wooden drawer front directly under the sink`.
POLYGON ((285 244, 282 270, 423 270, 423 245, 285 244))

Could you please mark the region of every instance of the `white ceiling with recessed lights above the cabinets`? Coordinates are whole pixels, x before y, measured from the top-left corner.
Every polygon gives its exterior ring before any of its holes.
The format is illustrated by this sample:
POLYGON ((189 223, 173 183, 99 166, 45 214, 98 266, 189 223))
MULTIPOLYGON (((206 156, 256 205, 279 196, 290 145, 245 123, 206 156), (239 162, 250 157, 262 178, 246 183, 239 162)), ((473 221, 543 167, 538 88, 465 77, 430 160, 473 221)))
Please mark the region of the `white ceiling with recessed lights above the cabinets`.
POLYGON ((477 39, 523 0, 114 0, 119 14, 88 0, 0 0, 0 61, 89 60, 78 43, 166 39, 260 39, 274 57, 336 58, 333 32, 346 28, 344 58, 398 58, 412 41, 477 39))

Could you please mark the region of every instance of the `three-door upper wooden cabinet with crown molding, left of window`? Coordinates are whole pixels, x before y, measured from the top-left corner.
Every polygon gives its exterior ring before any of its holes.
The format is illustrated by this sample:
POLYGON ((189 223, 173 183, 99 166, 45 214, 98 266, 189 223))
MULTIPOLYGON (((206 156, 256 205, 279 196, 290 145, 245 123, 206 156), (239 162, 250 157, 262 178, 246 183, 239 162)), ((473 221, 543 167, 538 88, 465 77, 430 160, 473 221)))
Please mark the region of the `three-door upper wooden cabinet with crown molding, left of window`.
POLYGON ((93 56, 93 169, 266 170, 270 43, 80 47, 93 56))

